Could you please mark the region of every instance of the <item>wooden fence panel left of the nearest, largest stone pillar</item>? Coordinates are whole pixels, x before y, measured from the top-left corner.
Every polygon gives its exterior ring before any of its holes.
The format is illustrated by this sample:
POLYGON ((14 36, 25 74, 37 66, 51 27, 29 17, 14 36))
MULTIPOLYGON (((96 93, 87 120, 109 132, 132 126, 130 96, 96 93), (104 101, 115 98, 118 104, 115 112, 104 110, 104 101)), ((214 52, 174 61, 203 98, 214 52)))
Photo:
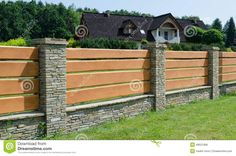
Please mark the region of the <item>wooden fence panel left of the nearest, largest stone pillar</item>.
POLYGON ((38 109, 37 61, 37 48, 0 47, 0 114, 38 109))

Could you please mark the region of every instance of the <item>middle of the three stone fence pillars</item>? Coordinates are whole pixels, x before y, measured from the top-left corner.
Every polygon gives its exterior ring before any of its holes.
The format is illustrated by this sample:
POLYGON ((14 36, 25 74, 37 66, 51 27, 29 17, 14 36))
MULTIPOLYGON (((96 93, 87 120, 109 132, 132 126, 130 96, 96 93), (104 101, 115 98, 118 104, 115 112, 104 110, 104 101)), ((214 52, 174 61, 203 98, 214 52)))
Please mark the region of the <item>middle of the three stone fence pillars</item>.
POLYGON ((151 53, 151 91, 155 96, 155 109, 163 109, 166 105, 165 79, 165 45, 150 44, 151 53))

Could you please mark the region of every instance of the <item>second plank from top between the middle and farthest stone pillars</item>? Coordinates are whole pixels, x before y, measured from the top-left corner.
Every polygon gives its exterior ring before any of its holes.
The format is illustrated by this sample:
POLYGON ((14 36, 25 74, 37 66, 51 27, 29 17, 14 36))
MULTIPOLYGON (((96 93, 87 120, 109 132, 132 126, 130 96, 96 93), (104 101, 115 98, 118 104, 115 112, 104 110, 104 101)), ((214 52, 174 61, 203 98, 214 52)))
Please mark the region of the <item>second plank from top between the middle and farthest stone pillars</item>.
POLYGON ((206 67, 208 59, 193 60, 167 60, 166 68, 189 68, 189 67, 206 67))

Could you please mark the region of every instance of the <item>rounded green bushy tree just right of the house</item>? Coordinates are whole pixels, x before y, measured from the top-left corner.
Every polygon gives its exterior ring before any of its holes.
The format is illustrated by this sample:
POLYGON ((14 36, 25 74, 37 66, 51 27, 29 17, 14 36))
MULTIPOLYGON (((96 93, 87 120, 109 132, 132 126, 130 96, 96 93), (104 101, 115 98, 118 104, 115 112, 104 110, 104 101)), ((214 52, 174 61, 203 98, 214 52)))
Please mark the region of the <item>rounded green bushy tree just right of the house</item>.
POLYGON ((205 44, 212 44, 212 43, 219 43, 223 44, 224 36, 223 34, 216 29, 210 29, 203 33, 202 36, 202 43, 205 44))

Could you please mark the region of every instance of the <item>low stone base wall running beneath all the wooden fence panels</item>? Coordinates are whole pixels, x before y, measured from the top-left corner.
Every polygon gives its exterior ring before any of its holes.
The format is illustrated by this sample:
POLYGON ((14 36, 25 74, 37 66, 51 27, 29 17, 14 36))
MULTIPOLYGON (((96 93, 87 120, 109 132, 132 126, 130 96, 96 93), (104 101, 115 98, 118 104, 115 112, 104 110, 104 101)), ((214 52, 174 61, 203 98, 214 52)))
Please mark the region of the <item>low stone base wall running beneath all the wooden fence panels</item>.
MULTIPOLYGON (((236 82, 220 85, 221 94, 236 91, 236 82)), ((211 87, 197 87, 166 93, 167 104, 184 104, 210 99, 211 87)), ((154 109, 153 95, 140 95, 66 108, 66 132, 79 131, 123 117, 134 117, 154 109)), ((45 135, 45 114, 22 113, 0 117, 0 139, 38 139, 45 135)))

